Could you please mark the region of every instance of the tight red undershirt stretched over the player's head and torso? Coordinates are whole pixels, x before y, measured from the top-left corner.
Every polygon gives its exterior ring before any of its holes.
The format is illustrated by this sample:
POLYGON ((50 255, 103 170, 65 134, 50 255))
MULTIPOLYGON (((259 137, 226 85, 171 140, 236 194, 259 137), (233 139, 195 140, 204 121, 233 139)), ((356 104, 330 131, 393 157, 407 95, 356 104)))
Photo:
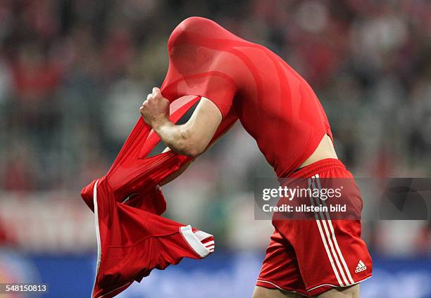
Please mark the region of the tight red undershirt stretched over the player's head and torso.
POLYGON ((215 103, 223 119, 238 117, 277 176, 289 176, 332 138, 325 112, 307 82, 268 48, 206 18, 187 18, 168 41, 169 70, 161 91, 215 103))

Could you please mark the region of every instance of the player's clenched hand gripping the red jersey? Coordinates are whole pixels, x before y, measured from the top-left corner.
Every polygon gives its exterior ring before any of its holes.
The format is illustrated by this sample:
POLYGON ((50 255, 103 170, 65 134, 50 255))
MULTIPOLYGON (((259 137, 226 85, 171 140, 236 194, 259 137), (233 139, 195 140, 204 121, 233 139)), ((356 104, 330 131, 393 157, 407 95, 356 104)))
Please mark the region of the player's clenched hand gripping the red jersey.
POLYGON ((146 124, 153 129, 169 121, 170 102, 161 95, 160 89, 154 87, 153 93, 146 96, 146 101, 139 109, 146 124))

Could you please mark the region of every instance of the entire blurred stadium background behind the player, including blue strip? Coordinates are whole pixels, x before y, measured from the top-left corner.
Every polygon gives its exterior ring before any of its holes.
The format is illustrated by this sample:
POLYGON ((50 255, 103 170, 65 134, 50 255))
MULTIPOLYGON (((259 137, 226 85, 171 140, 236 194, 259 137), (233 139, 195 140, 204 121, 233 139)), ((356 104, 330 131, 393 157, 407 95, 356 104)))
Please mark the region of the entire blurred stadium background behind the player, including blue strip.
MULTIPOLYGON (((0 0, 0 283, 89 296, 96 241, 80 189, 108 170, 163 82, 170 31, 192 15, 303 75, 356 176, 430 177, 429 1, 0 0)), ((213 233, 215 254, 154 271, 122 297, 250 297, 272 232, 254 221, 265 176, 237 124, 164 188, 166 215, 213 233)), ((375 267, 363 297, 431 297, 428 222, 367 221, 363 236, 375 267)))

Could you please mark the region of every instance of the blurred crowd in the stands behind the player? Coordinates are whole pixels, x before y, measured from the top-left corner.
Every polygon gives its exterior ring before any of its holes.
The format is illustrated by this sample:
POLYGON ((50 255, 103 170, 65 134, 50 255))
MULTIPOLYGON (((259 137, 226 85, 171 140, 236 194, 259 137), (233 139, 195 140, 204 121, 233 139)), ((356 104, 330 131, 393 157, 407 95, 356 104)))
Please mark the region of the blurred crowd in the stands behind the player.
MULTIPOLYGON (((430 1, 0 0, 0 189, 78 195, 106 173, 163 82, 170 32, 192 15, 304 76, 354 174, 431 175, 430 1)), ((170 212, 225 235, 252 214, 256 176, 273 174, 237 124, 168 186, 170 212)), ((413 250, 430 250, 429 228, 416 226, 413 250)))

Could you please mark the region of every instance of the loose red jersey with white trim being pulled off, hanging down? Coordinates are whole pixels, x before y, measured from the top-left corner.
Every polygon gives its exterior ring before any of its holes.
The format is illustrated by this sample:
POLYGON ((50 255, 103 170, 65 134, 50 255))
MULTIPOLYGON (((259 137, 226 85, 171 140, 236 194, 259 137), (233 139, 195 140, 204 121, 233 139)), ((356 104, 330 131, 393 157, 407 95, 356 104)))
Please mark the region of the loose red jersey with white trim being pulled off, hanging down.
MULTIPOLYGON (((174 101, 170 105, 170 119, 177 122, 197 101, 196 96, 174 101)), ((233 122, 233 118, 231 122, 223 122, 213 140, 233 122)), ((154 268, 164 269, 183 257, 206 256, 192 248, 190 240, 180 232, 185 225, 160 216, 166 209, 166 201, 157 184, 189 161, 189 157, 173 151, 146 157, 158 141, 160 138, 140 117, 108 174, 82 189, 82 198, 90 209, 97 211, 100 235, 100 259, 92 297, 113 297, 134 280, 139 282, 148 276, 154 268)), ((212 252, 212 235, 192 231, 196 237, 200 235, 197 241, 201 250, 212 252)))

